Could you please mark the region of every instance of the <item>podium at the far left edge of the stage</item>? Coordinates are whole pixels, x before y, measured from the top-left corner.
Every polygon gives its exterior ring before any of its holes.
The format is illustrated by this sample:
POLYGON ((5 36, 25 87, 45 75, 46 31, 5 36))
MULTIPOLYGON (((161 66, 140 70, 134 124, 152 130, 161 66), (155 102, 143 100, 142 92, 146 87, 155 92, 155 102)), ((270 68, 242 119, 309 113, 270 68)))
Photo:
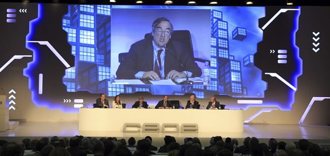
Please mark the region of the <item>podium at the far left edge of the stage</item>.
POLYGON ((9 109, 6 107, 6 95, 0 95, 0 131, 8 130, 9 109))

